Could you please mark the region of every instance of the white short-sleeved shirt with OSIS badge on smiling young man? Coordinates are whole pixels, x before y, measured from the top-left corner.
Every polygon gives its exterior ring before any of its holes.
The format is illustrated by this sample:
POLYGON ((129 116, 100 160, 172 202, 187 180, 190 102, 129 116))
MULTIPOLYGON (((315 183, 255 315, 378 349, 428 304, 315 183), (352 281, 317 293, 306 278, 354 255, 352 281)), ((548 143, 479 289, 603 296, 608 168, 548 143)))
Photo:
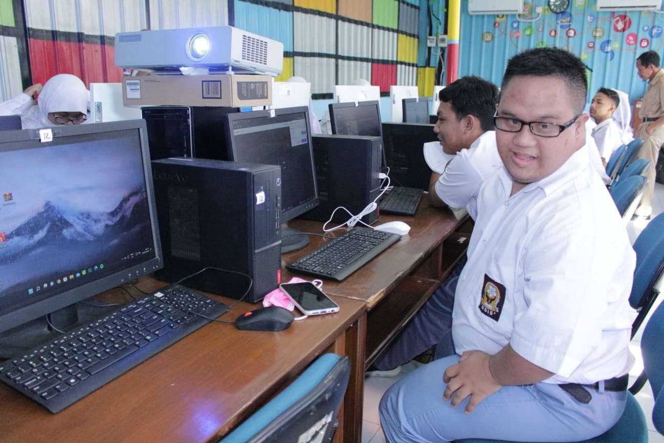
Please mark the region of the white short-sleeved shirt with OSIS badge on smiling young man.
POLYGON ((457 353, 508 343, 556 374, 594 383, 627 373, 635 253, 586 147, 510 197, 503 167, 481 187, 456 288, 457 353))

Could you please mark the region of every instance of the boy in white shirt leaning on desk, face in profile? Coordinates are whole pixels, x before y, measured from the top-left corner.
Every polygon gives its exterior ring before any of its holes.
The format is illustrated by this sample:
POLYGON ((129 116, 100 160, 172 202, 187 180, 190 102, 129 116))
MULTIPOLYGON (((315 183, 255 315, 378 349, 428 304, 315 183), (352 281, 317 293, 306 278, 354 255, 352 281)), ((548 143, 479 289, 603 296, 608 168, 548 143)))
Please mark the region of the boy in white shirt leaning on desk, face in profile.
MULTIPOLYGON (((440 91, 438 122, 434 132, 440 148, 456 154, 445 171, 432 173, 429 197, 433 205, 467 206, 482 182, 501 167, 495 147, 493 113, 498 103, 495 84, 475 76, 459 78, 440 91)), ((450 276, 416 313, 404 331, 374 361, 368 375, 394 377, 399 366, 436 345, 436 358, 454 353, 450 327, 457 280, 465 258, 459 260, 450 276), (391 370, 391 371, 390 371, 391 370)))

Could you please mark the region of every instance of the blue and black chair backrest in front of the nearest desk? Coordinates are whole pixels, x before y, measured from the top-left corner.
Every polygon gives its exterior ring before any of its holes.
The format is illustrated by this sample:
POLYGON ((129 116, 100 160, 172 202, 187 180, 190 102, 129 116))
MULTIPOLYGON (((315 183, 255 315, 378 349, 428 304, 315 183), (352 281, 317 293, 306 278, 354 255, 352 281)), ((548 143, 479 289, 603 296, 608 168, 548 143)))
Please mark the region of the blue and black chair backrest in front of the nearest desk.
POLYGON ((298 437, 330 442, 339 424, 350 367, 348 357, 322 355, 220 443, 297 442, 298 437))

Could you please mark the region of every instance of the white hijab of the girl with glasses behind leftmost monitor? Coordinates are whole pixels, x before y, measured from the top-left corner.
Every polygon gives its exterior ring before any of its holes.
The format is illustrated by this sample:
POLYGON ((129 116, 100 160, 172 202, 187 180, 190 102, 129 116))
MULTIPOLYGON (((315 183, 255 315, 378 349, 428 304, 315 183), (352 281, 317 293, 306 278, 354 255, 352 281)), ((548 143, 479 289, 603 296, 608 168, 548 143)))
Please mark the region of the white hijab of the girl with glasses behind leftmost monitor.
MULTIPOLYGON (((75 75, 58 74, 48 79, 44 84, 37 106, 21 116, 23 129, 49 128, 58 126, 48 120, 50 112, 81 112, 88 114, 88 92, 85 84, 75 75)), ((90 116, 88 116, 88 122, 90 116)))

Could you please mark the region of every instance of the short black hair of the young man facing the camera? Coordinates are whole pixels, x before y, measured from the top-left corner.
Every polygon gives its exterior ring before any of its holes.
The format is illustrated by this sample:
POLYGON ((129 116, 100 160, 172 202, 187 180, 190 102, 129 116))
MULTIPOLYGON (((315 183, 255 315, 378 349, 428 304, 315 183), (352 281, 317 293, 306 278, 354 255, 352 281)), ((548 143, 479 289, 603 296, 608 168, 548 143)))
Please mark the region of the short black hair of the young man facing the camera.
POLYGON ((574 113, 580 114, 586 106, 586 65, 576 55, 564 49, 535 48, 513 56, 507 62, 502 89, 505 89, 515 76, 562 78, 570 90, 574 113))

